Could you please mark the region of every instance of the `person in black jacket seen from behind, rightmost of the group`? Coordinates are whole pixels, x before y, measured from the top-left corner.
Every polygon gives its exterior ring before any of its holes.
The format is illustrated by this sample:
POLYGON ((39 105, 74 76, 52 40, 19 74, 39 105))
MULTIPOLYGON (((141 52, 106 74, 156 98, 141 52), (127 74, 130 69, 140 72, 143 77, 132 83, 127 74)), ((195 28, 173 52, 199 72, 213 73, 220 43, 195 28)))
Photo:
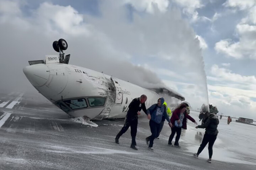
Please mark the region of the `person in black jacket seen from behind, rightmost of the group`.
POLYGON ((211 163, 212 157, 212 147, 217 138, 217 134, 219 131, 217 130, 219 124, 219 119, 217 118, 217 114, 215 113, 207 113, 207 120, 204 125, 199 125, 196 128, 205 128, 205 134, 203 141, 197 151, 193 156, 198 158, 199 154, 203 151, 204 147, 208 144, 208 151, 209 151, 209 159, 207 162, 211 163))

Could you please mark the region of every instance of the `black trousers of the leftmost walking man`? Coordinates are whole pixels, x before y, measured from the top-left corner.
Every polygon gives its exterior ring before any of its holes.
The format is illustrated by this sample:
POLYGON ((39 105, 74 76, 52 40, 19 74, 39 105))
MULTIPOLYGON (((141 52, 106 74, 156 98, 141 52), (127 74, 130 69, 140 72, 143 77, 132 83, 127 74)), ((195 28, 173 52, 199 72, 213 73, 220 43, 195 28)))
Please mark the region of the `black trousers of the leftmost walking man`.
POLYGON ((137 134, 137 125, 138 125, 138 118, 133 119, 125 119, 124 127, 120 130, 117 134, 117 139, 120 138, 128 129, 131 127, 131 137, 132 137, 132 145, 136 145, 135 137, 137 134))

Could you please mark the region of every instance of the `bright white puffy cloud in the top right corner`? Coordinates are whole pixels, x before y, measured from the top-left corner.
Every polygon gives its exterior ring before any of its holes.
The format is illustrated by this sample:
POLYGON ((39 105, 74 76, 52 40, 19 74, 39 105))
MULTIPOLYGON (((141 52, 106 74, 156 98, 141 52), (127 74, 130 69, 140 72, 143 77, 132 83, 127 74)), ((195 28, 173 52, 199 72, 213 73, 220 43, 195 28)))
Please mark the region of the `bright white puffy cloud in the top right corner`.
POLYGON ((256 60, 256 1, 255 0, 228 0, 224 6, 231 9, 244 10, 245 18, 236 25, 238 41, 223 39, 215 44, 217 53, 225 54, 235 59, 249 58, 256 60))

